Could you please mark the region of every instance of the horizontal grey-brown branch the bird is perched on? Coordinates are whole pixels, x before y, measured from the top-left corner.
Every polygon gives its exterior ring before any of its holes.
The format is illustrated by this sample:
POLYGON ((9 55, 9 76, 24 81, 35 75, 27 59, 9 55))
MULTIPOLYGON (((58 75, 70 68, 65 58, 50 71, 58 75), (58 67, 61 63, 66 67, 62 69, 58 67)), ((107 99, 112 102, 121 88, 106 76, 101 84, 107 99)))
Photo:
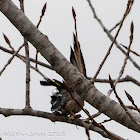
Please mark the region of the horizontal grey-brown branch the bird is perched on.
MULTIPOLYGON (((95 131, 99 134, 101 134, 105 138, 112 139, 109 135, 106 134, 105 131, 103 131, 101 128, 98 128, 94 126, 93 124, 88 124, 84 122, 81 119, 75 119, 71 120, 70 118, 62 115, 55 115, 52 113, 48 112, 43 112, 43 111, 38 111, 38 110, 33 110, 31 108, 27 109, 5 109, 5 108, 0 108, 0 114, 3 114, 5 117, 12 116, 12 115, 26 115, 26 116, 35 116, 35 117, 41 117, 41 118, 46 118, 51 120, 52 122, 59 121, 59 122, 65 122, 69 124, 75 124, 84 128, 87 128, 89 130, 95 131)), ((124 140, 120 136, 117 136, 116 134, 110 132, 113 136, 118 138, 118 140, 124 140)), ((112 139, 113 140, 113 139, 112 139)))

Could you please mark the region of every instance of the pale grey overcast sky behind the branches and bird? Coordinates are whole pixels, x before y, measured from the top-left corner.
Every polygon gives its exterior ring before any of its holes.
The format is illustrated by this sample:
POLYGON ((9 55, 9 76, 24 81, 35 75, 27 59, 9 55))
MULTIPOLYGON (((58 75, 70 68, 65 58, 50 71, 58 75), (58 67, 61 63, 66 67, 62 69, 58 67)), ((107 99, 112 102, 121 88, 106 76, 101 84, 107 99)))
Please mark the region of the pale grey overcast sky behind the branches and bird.
MULTIPOLYGON (((19 0, 12 0, 19 7, 19 0)), ((39 30, 46 34, 50 41, 60 50, 60 52, 69 59, 70 46, 73 43, 74 21, 72 16, 72 6, 76 12, 78 37, 83 51, 87 75, 93 77, 100 65, 104 55, 107 52, 111 42, 105 32, 102 30, 97 21, 93 18, 92 12, 86 0, 24 0, 25 13, 27 17, 37 25, 41 15, 41 9, 45 2, 47 2, 47 10, 41 22, 39 30)), ((97 15, 103 21, 104 25, 111 29, 120 19, 126 9, 127 0, 92 0, 93 6, 97 11, 97 15)), ((140 1, 136 0, 132 8, 131 14, 124 22, 124 26, 118 37, 118 42, 124 45, 129 44, 130 25, 134 22, 134 42, 132 49, 140 53, 140 1)), ((15 50, 23 43, 23 38, 18 30, 8 21, 8 19, 0 13, 0 45, 8 48, 8 45, 3 39, 2 33, 6 34, 10 39, 15 50)), ((116 30, 113 31, 113 35, 116 30)), ((30 55, 35 58, 35 49, 30 44, 30 55)), ((24 49, 21 50, 24 54, 24 49)), ((7 63, 11 55, 6 54, 0 50, 0 69, 7 63)), ((138 57, 132 55, 134 60, 140 65, 138 57)), ((124 55, 114 46, 107 62, 101 70, 98 78, 108 78, 111 74, 112 78, 117 78, 122 67, 124 55)), ((45 63, 41 56, 39 59, 45 63)), ((49 78, 61 80, 62 78, 55 72, 39 67, 39 69, 49 78)), ((0 107, 3 108, 24 108, 25 106, 25 64, 15 58, 11 65, 0 77, 0 107)), ((128 61, 124 76, 131 75, 140 81, 140 73, 138 69, 133 67, 133 64, 128 61)), ((51 112, 50 111, 50 96, 55 90, 54 87, 42 87, 39 81, 43 78, 31 70, 31 106, 33 109, 51 112)), ((97 84, 96 87, 105 95, 110 89, 109 84, 97 84)), ((140 106, 139 102, 139 87, 132 83, 118 84, 117 91, 124 103, 129 105, 129 101, 125 96, 124 90, 127 90, 134 98, 136 104, 140 106)), ((112 94, 111 98, 116 100, 112 94)), ((116 100, 117 101, 117 100, 116 100)), ((130 104, 131 105, 131 104, 130 104)), ((86 104, 85 108, 91 114, 97 112, 96 109, 86 104)), ((86 115, 82 112, 82 117, 86 115)), ((96 120, 102 122, 107 119, 106 116, 101 115, 96 120)), ((51 122, 50 120, 30 117, 30 116, 11 116, 5 118, 0 115, 0 135, 3 140, 71 140, 73 139, 87 139, 85 130, 74 125, 51 122), (35 135, 36 133, 36 135, 35 135), (11 134, 11 136, 10 136, 11 134), (37 136, 38 135, 38 136, 37 136)), ((138 140, 139 134, 125 128, 124 126, 113 121, 105 124, 106 129, 122 136, 125 139, 138 140)), ((95 132, 90 132, 91 139, 102 140, 102 136, 95 132)))

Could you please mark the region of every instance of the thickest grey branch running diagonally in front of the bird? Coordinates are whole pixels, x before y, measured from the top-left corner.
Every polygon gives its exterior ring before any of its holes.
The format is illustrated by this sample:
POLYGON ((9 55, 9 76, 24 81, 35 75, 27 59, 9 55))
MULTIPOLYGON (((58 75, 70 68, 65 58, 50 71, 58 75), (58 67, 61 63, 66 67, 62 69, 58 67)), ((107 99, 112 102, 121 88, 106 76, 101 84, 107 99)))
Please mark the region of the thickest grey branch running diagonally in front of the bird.
MULTIPOLYGON (((131 121, 125 110, 117 102, 97 90, 91 81, 66 60, 48 37, 43 35, 11 0, 0 0, 0 10, 83 99, 112 120, 140 132, 140 128, 131 121)), ((140 115, 131 110, 130 112, 137 122, 140 122, 140 115)))

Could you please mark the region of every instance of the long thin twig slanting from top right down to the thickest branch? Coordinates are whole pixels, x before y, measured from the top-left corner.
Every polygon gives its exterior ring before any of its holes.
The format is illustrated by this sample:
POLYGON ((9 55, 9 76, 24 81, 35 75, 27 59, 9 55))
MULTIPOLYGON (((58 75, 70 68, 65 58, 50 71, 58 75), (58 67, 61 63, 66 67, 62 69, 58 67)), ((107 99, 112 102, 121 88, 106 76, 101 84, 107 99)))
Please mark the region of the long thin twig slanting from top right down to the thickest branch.
MULTIPOLYGON (((90 0, 87 0, 87 1, 90 2, 90 0)), ((102 69, 102 67, 103 67, 103 65, 104 65, 104 63, 105 63, 105 61, 107 60, 107 58, 108 58, 108 56, 109 56, 109 54, 110 54, 110 52, 111 52, 111 49, 112 49, 112 47, 113 47, 113 45, 114 45, 114 43, 115 43, 115 40, 117 39, 117 37, 118 37, 118 35, 119 35, 119 32, 120 32, 120 30, 121 30, 121 28, 122 28, 122 26, 123 26, 124 20, 125 20, 125 18, 127 17, 128 13, 130 12, 130 8, 131 8, 131 5, 132 5, 132 4, 133 4, 133 3, 132 3, 132 0, 129 0, 129 1, 128 1, 128 4, 127 4, 127 7, 126 7, 126 10, 125 10, 125 13, 124 13, 124 15, 123 15, 123 18, 122 18, 122 20, 121 20, 119 29, 118 29, 118 31, 117 31, 117 33, 116 33, 116 35, 115 35, 115 37, 114 37, 114 39, 113 39, 113 41, 112 41, 112 43, 111 43, 109 49, 108 49, 108 51, 107 51, 107 54, 105 55, 105 57, 104 57, 103 61, 101 62, 101 64, 100 64, 100 66, 99 66, 99 68, 98 68, 98 70, 97 70, 95 76, 93 77, 93 83, 95 82, 96 77, 97 77, 98 74, 100 73, 100 71, 101 71, 101 69, 102 69)))

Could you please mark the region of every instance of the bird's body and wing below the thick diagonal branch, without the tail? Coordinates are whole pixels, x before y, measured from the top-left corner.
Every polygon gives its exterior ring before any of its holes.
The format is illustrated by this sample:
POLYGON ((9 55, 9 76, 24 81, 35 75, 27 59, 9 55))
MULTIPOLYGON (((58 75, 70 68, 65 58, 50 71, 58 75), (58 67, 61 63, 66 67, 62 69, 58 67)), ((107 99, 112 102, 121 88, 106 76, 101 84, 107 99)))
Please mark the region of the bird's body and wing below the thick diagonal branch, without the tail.
POLYGON ((63 83, 57 83, 57 80, 47 80, 40 81, 40 84, 44 86, 55 86, 58 90, 51 96, 51 111, 53 112, 61 112, 63 115, 72 115, 81 111, 81 107, 84 106, 84 100, 74 91, 71 92, 74 99, 80 104, 80 107, 71 97, 71 94, 65 89, 63 83))

